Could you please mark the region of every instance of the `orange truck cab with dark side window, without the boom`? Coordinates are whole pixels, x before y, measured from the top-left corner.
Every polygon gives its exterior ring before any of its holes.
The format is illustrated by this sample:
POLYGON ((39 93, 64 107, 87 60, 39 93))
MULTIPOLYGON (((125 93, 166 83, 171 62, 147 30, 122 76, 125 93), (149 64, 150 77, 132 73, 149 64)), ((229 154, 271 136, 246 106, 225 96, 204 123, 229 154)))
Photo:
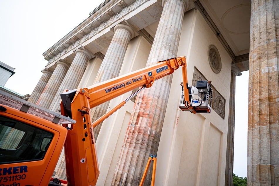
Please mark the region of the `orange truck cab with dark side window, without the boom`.
POLYGON ((0 185, 48 185, 67 129, 45 109, 0 93, 0 185))

